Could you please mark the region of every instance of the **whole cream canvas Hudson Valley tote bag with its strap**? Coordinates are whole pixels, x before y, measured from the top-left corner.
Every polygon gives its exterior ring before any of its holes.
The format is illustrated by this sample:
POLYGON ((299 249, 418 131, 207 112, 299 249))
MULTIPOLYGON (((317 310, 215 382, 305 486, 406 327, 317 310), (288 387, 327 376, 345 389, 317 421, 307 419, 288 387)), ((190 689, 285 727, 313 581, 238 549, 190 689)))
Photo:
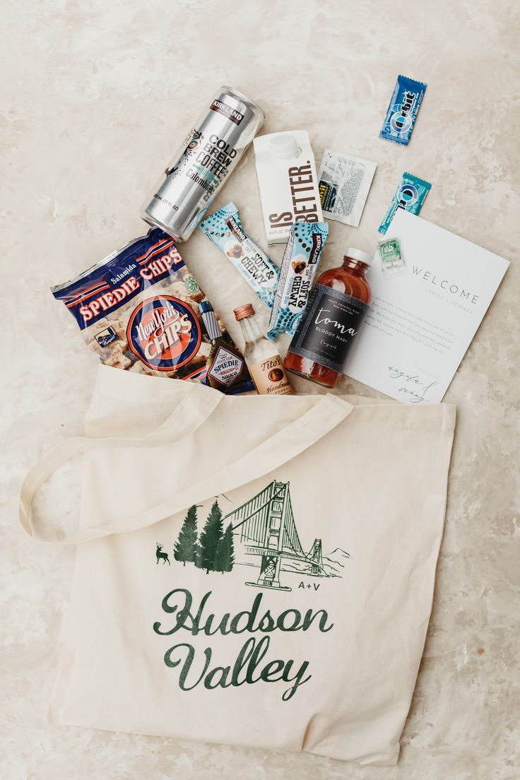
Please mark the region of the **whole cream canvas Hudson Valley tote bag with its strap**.
POLYGON ((394 764, 454 424, 444 404, 230 397, 101 366, 86 438, 21 494, 28 534, 80 543, 50 721, 394 764), (80 453, 79 519, 56 530, 62 502, 34 494, 80 453))

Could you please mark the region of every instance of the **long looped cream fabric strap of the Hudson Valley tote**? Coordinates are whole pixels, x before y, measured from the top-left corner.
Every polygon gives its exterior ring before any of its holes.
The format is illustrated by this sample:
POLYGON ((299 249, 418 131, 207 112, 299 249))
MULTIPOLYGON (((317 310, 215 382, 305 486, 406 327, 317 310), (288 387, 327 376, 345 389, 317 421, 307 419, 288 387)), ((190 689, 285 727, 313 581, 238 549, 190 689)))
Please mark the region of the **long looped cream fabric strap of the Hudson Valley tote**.
MULTIPOLYGON (((220 395, 220 394, 219 394, 220 395)), ((224 396, 221 395, 221 398, 224 396)), ((220 399, 217 399, 217 402, 220 399)), ((231 491, 242 484, 246 484, 264 474, 278 468, 278 466, 287 463, 295 458, 300 452, 307 449, 318 439, 329 433, 336 427, 341 420, 352 411, 352 404, 339 399, 337 396, 327 394, 320 396, 320 400, 302 414, 296 420, 286 424, 275 434, 271 435, 260 445, 256 445, 245 455, 235 460, 233 463, 204 476, 190 484, 182 491, 172 495, 168 500, 150 506, 148 509, 141 510, 133 516, 127 516, 124 524, 121 522, 111 522, 101 527, 87 527, 76 531, 75 533, 63 532, 59 536, 48 537, 42 534, 44 531, 44 520, 34 516, 33 500, 37 491, 51 477, 51 474, 66 463, 69 459, 81 455, 83 452, 89 452, 95 449, 116 449, 118 447, 149 447, 156 441, 179 441, 189 436, 196 427, 202 424, 211 412, 214 410, 217 402, 213 406, 207 406, 203 416, 196 421, 196 424, 189 427, 189 430, 182 431, 180 437, 168 437, 168 428, 172 417, 168 418, 157 431, 143 438, 121 439, 121 438, 70 438, 51 449, 34 466, 23 482, 20 491, 19 520, 27 534, 37 538, 39 541, 58 542, 65 544, 76 544, 78 542, 89 541, 108 534, 120 534, 127 531, 137 530, 158 523, 160 520, 181 512, 187 506, 197 502, 205 501, 211 496, 223 492, 231 491)), ((179 407, 178 407, 179 410, 179 407)), ((177 410, 176 410, 177 412, 177 410)), ((175 415, 175 413, 174 413, 175 415)), ((171 431, 170 431, 171 432, 171 431)))

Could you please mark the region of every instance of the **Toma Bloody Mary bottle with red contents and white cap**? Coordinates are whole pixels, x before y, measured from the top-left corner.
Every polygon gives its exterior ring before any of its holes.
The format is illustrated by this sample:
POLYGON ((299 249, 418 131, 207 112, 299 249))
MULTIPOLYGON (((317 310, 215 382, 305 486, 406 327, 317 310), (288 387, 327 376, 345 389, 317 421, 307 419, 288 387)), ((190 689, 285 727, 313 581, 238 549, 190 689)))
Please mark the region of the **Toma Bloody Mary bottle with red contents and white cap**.
POLYGON ((372 303, 365 278, 371 263, 370 254, 349 247, 339 268, 318 277, 285 357, 287 371, 327 388, 338 384, 372 303))

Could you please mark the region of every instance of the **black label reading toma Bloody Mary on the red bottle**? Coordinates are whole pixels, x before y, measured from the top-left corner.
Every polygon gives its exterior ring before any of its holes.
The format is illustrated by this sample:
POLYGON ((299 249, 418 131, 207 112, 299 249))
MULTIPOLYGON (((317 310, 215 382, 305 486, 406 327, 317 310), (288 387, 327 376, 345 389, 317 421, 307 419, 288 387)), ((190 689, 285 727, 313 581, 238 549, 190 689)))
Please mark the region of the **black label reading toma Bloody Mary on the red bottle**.
POLYGON ((315 285, 289 351, 343 374, 348 351, 368 310, 357 298, 315 285))

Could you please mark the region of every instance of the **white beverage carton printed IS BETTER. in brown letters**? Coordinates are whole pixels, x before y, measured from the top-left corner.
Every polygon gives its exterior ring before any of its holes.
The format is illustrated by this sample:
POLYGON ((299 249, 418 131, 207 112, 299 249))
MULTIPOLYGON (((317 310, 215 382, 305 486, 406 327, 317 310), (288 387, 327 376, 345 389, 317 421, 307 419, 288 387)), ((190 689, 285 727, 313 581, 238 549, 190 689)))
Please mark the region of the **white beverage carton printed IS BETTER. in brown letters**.
POLYGON ((286 243, 295 222, 323 221, 309 133, 284 130, 253 144, 267 243, 286 243))

